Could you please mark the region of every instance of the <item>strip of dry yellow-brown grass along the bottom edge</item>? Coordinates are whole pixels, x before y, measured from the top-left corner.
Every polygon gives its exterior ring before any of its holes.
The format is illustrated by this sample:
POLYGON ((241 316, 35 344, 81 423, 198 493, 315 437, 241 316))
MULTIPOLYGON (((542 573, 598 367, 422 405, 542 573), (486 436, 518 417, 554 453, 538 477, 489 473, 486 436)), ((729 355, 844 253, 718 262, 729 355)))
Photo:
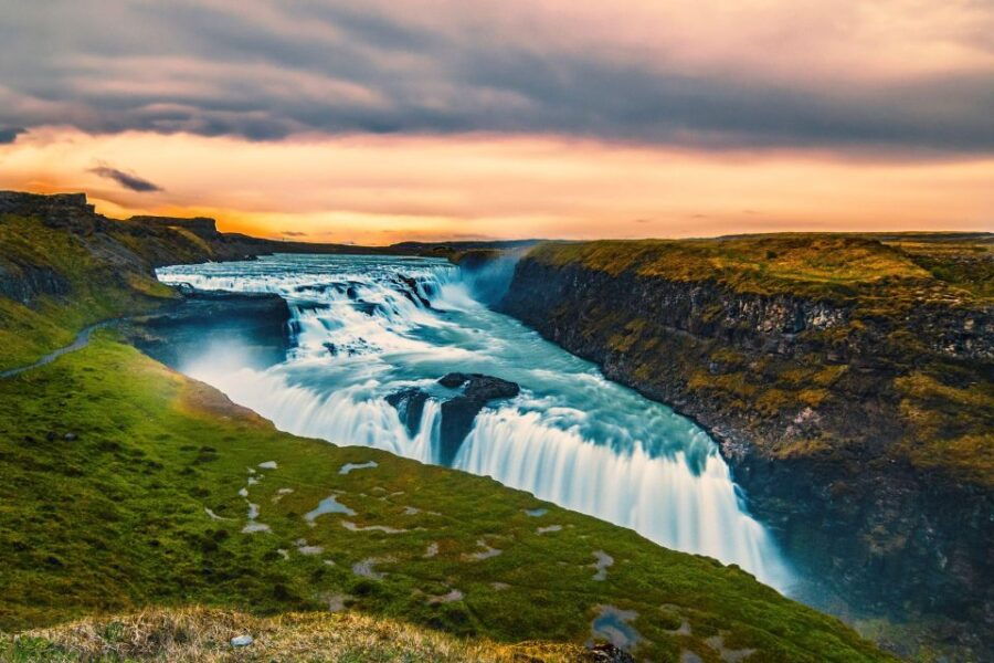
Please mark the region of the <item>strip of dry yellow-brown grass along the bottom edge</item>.
POLYGON ((260 618, 200 607, 113 618, 87 618, 18 635, 0 635, 0 661, 522 662, 584 660, 571 644, 498 644, 459 640, 403 622, 356 612, 292 612, 260 618), (248 646, 232 638, 250 634, 248 646))

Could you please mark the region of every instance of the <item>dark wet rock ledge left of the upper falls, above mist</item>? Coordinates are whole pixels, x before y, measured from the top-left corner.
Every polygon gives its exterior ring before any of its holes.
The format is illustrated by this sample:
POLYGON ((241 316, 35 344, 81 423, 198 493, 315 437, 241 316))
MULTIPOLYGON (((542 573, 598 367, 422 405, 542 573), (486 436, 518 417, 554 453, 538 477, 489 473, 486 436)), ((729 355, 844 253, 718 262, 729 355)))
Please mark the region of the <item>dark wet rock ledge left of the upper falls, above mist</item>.
POLYGON ((240 346, 258 368, 286 359, 290 312, 268 293, 226 293, 182 288, 182 299, 129 322, 129 340, 150 357, 177 368, 212 344, 240 346))

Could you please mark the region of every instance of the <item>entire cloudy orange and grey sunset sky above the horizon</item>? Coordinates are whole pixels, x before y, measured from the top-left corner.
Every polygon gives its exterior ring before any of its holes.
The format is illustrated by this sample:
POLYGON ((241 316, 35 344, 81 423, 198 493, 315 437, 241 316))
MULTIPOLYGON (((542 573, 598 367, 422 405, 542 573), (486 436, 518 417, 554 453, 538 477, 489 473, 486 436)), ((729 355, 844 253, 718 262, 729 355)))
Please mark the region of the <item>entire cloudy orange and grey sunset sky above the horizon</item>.
POLYGON ((0 0, 0 187, 314 241, 994 230, 992 0, 0 0))

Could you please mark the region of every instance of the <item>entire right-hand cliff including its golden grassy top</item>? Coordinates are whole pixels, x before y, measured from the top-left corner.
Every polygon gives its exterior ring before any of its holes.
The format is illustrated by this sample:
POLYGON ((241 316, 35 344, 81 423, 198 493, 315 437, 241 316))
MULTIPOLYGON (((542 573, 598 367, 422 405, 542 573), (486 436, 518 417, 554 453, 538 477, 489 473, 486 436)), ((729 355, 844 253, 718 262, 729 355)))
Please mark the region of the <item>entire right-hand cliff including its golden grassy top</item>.
POLYGON ((969 649, 994 624, 992 273, 990 235, 546 244, 500 307, 709 429, 807 600, 952 618, 969 649))

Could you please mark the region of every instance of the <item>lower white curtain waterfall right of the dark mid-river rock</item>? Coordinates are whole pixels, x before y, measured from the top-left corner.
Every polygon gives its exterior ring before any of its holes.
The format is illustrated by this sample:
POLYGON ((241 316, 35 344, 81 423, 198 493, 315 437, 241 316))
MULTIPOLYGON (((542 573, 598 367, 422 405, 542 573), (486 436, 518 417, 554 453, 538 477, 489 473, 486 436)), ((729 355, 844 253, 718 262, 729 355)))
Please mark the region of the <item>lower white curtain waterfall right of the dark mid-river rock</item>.
POLYGON ((759 523, 745 514, 728 466, 716 451, 700 473, 683 451, 653 456, 592 444, 543 425, 537 412, 483 412, 455 467, 604 520, 677 550, 708 555, 775 582, 785 569, 759 523))

